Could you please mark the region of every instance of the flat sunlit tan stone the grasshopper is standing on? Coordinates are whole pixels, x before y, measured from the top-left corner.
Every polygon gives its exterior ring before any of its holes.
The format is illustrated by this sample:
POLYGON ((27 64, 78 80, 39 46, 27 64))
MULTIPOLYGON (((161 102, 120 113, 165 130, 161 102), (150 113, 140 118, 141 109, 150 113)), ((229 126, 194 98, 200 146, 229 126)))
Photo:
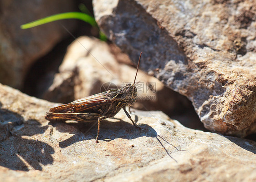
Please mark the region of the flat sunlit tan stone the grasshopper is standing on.
POLYGON ((55 103, 0 84, 0 181, 256 181, 256 143, 185 128, 159 111, 49 123, 55 103))

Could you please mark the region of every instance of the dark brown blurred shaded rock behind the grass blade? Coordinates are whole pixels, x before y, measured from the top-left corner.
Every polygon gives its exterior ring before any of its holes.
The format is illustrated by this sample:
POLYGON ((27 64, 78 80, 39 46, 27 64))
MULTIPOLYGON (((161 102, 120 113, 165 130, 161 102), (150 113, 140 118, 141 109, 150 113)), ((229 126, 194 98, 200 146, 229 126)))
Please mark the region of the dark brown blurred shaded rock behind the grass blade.
POLYGON ((21 89, 31 65, 67 36, 68 32, 63 26, 72 31, 75 28, 75 21, 65 20, 27 30, 20 29, 20 25, 49 15, 73 11, 75 6, 72 0, 66 0, 65 3, 58 0, 2 0, 0 83, 21 89))

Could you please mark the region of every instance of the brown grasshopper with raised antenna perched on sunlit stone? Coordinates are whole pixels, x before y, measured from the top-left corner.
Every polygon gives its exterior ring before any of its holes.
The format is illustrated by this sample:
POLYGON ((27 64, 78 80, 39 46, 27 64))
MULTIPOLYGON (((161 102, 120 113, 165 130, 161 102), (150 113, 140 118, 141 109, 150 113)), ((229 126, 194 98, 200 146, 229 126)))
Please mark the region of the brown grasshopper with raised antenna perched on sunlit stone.
MULTIPOLYGON (((138 66, 141 54, 142 53, 139 55, 138 66)), ((127 117, 133 122, 135 128, 139 128, 125 109, 126 105, 133 106, 137 100, 135 80, 138 73, 138 66, 133 84, 126 84, 121 89, 111 89, 106 92, 75 100, 72 103, 50 108, 50 111, 46 113, 45 118, 48 120, 70 119, 75 121, 98 119, 97 143, 100 132, 100 122, 103 119, 115 116, 121 108, 123 108, 127 117)))

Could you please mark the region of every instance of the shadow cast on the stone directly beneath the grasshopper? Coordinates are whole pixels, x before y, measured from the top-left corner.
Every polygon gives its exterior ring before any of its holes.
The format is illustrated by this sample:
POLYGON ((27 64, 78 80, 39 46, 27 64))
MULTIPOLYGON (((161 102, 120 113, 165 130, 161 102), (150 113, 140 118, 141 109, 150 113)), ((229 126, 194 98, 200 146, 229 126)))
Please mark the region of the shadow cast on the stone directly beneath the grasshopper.
MULTIPOLYGON (((125 122, 118 119, 119 122, 110 122, 108 120, 102 120, 100 124, 100 134, 99 142, 111 141, 116 138, 134 139, 139 137, 156 137, 156 131, 147 124, 139 124, 140 129, 135 128, 132 123, 125 122)), ((54 127, 56 127, 56 122, 50 122, 54 127)), ((97 121, 95 122, 78 122, 78 123, 68 123, 68 125, 77 128, 80 132, 75 132, 75 134, 68 138, 67 140, 60 142, 60 148, 66 148, 73 143, 77 143, 82 140, 95 139, 97 136, 97 121)), ((59 132, 67 132, 61 129, 56 129, 59 132)))

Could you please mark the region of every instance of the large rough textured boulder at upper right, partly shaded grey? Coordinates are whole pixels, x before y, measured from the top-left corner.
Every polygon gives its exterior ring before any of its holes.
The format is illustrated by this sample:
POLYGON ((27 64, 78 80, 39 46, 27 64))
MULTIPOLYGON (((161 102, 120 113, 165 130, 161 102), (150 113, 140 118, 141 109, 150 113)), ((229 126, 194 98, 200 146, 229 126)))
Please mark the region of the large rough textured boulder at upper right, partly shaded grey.
POLYGON ((187 96, 205 128, 256 132, 256 6, 247 1, 94 0, 105 34, 187 96))

